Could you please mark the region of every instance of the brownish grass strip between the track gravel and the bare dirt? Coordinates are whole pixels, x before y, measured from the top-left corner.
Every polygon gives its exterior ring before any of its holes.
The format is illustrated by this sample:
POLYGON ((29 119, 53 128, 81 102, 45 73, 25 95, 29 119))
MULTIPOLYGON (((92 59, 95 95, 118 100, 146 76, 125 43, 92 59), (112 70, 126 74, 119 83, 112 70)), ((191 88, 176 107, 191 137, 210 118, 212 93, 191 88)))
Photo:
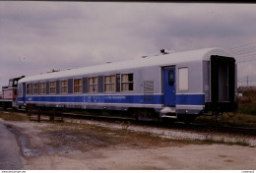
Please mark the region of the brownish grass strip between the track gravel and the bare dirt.
MULTIPOLYGON (((166 139, 159 135, 155 135, 148 132, 135 132, 127 129, 111 129, 96 125, 89 124, 73 124, 73 123, 52 123, 49 126, 39 127, 47 133, 52 132, 70 132, 74 136, 90 136, 92 139, 100 141, 99 145, 96 146, 108 146, 115 144, 125 144, 134 147, 162 147, 162 146, 181 146, 186 144, 228 144, 228 145, 243 145, 249 146, 245 140, 237 140, 236 142, 226 142, 224 139, 215 140, 212 135, 207 136, 204 140, 186 140, 186 139, 166 139)), ((65 140, 65 137, 59 135, 54 137, 54 143, 70 143, 65 140), (58 139, 60 138, 60 139, 58 139)), ((74 143, 79 144, 76 140, 74 143)), ((83 148, 82 146, 79 147, 83 148)), ((81 150, 85 150, 81 149, 81 150)))

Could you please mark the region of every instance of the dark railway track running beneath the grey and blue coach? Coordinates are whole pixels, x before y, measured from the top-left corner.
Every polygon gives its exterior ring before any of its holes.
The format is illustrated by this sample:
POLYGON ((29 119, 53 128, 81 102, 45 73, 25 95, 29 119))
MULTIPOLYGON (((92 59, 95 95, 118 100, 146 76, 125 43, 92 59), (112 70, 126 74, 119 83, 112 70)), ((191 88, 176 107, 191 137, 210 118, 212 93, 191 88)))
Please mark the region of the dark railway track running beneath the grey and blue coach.
MULTIPOLYGON (((18 110, 19 112, 25 113, 25 110, 18 110)), ((42 117, 47 116, 43 115, 42 117)), ((52 113, 50 114, 50 116, 52 113)), ((32 115, 36 116, 36 115, 32 115)), ((49 115, 48 115, 49 116, 49 115)), ((231 127, 224 125, 205 125, 205 124, 185 124, 182 122, 171 122, 171 121, 138 121, 134 118, 120 117, 120 116, 104 116, 104 115, 95 115, 95 114, 80 114, 80 113, 67 113, 67 112, 55 112, 55 117, 59 118, 69 118, 69 119, 81 119, 81 120, 96 120, 104 121, 111 123, 120 123, 120 122, 130 122, 133 125, 144 126, 144 127, 155 127, 162 129, 173 129, 173 130, 183 130, 183 131, 193 131, 193 132, 208 132, 208 133, 226 133, 234 135, 244 135, 248 137, 256 137, 256 128, 243 128, 243 127, 231 127)), ((33 120, 37 120, 36 117, 33 120)), ((42 119, 43 120, 43 119, 42 119)), ((47 120, 47 118, 44 120, 47 120)), ((48 119, 50 120, 50 118, 48 119)))

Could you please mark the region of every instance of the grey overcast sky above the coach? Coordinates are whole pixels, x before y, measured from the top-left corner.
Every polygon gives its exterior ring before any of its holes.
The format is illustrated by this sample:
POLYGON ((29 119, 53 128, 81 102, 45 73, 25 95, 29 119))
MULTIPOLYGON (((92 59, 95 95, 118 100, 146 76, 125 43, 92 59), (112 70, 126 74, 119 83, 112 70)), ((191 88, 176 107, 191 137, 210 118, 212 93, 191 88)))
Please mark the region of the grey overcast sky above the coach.
POLYGON ((256 4, 0 1, 0 87, 22 75, 141 58, 162 48, 229 49, 248 60, 238 63, 238 79, 256 80, 255 30, 256 4))

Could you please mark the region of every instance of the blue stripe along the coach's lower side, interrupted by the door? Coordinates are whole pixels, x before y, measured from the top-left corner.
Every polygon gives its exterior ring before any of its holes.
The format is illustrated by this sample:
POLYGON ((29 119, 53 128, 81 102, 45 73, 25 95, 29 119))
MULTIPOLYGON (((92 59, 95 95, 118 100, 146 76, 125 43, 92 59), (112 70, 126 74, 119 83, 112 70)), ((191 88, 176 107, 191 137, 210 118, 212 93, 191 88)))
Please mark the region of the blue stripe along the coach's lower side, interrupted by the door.
MULTIPOLYGON (((23 101, 19 97, 18 101, 23 101)), ((163 95, 32 95, 26 97, 32 102, 75 102, 75 103, 134 103, 163 104, 163 95)), ((176 105, 205 105, 205 94, 176 94, 176 105)))

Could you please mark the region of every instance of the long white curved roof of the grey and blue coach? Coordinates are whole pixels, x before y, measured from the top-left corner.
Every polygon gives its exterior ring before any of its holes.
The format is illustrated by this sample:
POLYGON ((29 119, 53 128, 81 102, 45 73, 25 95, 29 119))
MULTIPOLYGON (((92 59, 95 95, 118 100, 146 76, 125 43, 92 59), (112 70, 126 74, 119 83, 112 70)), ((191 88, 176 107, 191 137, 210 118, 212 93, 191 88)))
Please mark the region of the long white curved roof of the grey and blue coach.
POLYGON ((72 78, 76 76, 83 76, 85 74, 94 74, 100 72, 109 72, 116 70, 134 69, 151 66, 168 66, 176 65, 182 62, 192 61, 209 61, 211 55, 230 56, 227 51, 222 48, 206 48, 177 53, 170 53, 159 56, 149 56, 147 58, 133 59, 128 61, 121 61, 115 63, 101 64, 96 66, 89 66, 79 69, 65 70, 54 73, 47 73, 35 76, 29 76, 19 81, 19 83, 26 83, 32 81, 43 81, 57 78, 72 78))

